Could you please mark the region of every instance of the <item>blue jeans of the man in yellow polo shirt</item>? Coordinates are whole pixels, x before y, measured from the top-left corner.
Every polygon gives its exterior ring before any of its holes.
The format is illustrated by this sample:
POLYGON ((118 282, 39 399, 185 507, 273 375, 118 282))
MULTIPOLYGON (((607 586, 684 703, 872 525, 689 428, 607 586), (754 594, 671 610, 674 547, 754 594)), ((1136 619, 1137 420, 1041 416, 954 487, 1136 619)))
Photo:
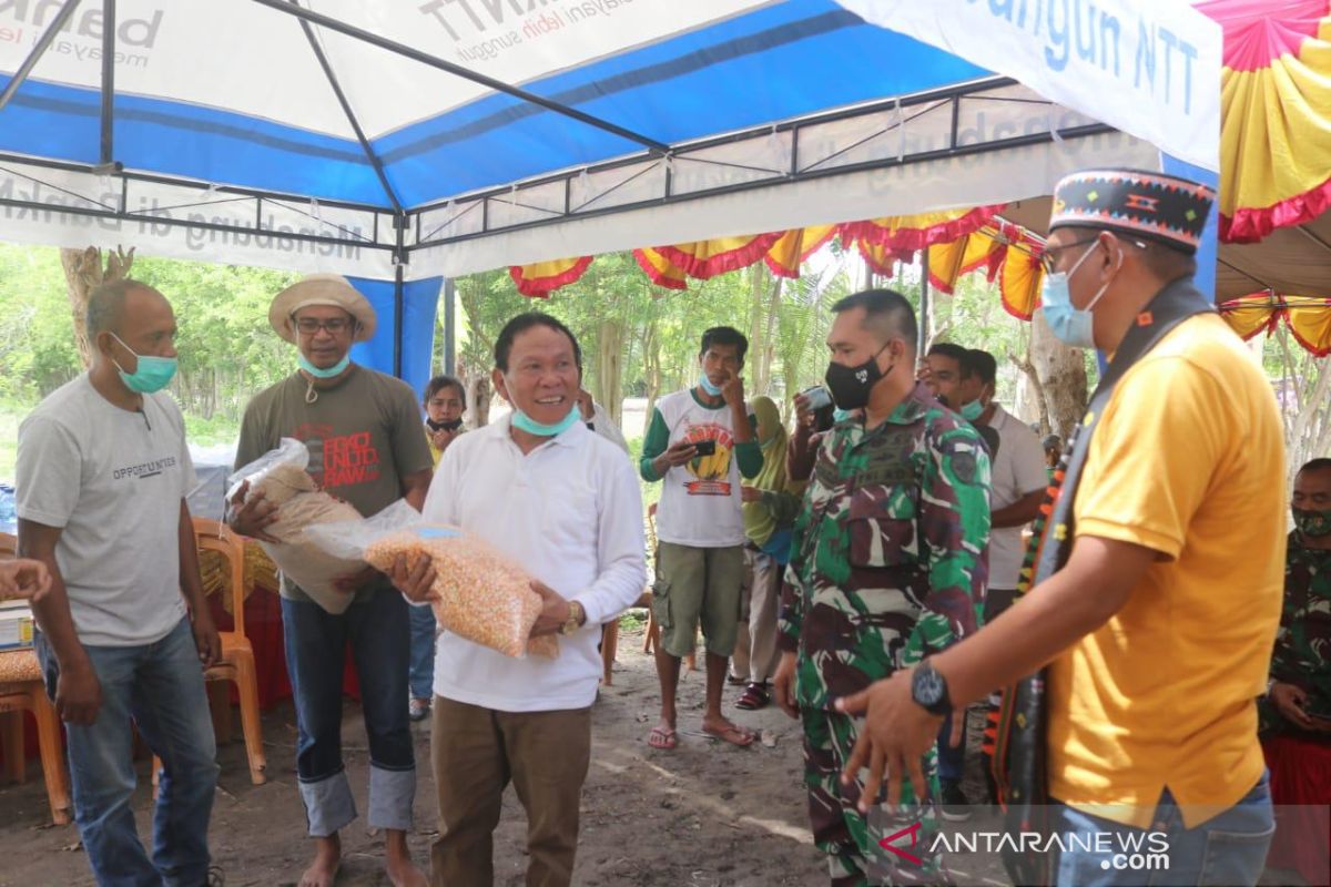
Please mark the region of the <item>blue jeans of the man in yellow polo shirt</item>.
POLYGON ((1081 836, 1077 848, 1059 854, 1055 883, 1077 887, 1131 884, 1255 884, 1266 866, 1275 834, 1267 774, 1236 805, 1193 828, 1169 789, 1161 795, 1150 828, 1135 828, 1058 805, 1054 830, 1063 846, 1081 836), (1089 844, 1109 832, 1111 852, 1089 844), (1089 835, 1089 836, 1087 836, 1089 835), (1139 843, 1138 843, 1139 842, 1139 843), (1130 850, 1123 854, 1122 847, 1130 850), (1091 850, 1085 847, 1091 846, 1091 850), (1165 858, 1146 859, 1153 854, 1165 858), (1165 867, 1167 862, 1167 867, 1165 867), (1135 866, 1135 867, 1131 867, 1135 866))

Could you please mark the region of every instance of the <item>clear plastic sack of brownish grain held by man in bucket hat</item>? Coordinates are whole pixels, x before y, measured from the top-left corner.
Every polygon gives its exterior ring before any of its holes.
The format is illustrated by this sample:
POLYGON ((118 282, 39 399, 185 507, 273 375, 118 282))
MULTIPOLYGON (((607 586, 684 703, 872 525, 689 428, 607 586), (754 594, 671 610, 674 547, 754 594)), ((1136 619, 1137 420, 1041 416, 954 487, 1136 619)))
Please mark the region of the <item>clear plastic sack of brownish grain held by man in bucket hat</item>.
POLYGON ((277 520, 264 532, 277 543, 260 541, 264 552, 282 573, 329 613, 342 613, 351 605, 354 592, 343 592, 337 580, 365 569, 359 557, 337 557, 315 545, 306 531, 333 523, 361 520, 361 512, 323 492, 306 473, 310 452, 303 443, 282 438, 270 449, 228 477, 228 501, 249 481, 245 501, 258 493, 277 505, 277 520))

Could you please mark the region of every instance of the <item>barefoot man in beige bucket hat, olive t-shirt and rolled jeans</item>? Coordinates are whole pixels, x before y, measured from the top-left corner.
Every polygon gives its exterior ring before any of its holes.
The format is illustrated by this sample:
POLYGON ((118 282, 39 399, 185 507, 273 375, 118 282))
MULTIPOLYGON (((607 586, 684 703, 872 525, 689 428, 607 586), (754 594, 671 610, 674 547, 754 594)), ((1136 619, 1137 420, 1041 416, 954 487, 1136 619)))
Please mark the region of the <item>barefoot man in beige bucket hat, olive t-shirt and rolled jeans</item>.
MULTIPOLYGON (((313 274, 273 299, 269 323, 295 344, 298 371, 258 394, 245 410, 236 465, 258 459, 282 438, 303 440, 309 472, 362 515, 399 497, 415 508, 433 475, 415 394, 402 380, 357 366, 353 342, 374 335, 374 309, 345 278, 313 274)), ((277 508, 261 496, 230 503, 230 524, 264 539, 277 508)), ((407 852, 415 798, 415 758, 402 689, 407 684, 407 604, 381 573, 366 569, 339 586, 354 600, 333 614, 289 577, 281 582, 286 665, 299 731, 297 775, 315 839, 301 887, 330 887, 341 860, 338 831, 355 819, 342 765, 342 668, 350 641, 370 743, 369 824, 382 828, 394 884, 423 886, 407 852)))

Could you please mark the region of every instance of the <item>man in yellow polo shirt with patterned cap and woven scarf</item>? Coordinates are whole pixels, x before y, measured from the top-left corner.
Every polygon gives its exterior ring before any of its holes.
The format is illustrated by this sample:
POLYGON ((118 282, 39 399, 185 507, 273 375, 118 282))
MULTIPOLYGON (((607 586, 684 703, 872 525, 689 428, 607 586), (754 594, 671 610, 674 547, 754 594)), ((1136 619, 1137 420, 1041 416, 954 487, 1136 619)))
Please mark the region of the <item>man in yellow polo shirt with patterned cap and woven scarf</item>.
POLYGON ((1009 747, 1036 763, 1006 802, 1029 823, 1050 805, 1047 855, 1022 871, 1050 863, 1057 884, 1252 884, 1274 831, 1255 701, 1280 616, 1284 448, 1260 367, 1193 286, 1213 199, 1158 173, 1059 182, 1045 315, 1113 358, 1055 472, 1034 586, 841 703, 868 717, 848 771, 869 766, 890 801, 918 781, 934 713, 1021 682, 1009 747), (1133 842, 1167 871, 1130 870, 1133 842))

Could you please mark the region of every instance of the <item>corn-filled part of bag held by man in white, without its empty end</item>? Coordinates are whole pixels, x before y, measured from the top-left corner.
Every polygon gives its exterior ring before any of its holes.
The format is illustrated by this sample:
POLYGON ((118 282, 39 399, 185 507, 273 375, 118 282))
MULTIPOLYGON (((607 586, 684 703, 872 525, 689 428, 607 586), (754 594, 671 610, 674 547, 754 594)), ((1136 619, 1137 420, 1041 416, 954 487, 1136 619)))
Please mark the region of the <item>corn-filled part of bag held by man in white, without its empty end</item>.
POLYGON ((504 656, 559 656, 554 636, 530 638, 540 616, 540 596, 526 570, 487 543, 451 527, 425 524, 371 541, 365 560, 387 572, 399 556, 415 569, 422 556, 433 561, 431 601, 439 626, 504 656))

